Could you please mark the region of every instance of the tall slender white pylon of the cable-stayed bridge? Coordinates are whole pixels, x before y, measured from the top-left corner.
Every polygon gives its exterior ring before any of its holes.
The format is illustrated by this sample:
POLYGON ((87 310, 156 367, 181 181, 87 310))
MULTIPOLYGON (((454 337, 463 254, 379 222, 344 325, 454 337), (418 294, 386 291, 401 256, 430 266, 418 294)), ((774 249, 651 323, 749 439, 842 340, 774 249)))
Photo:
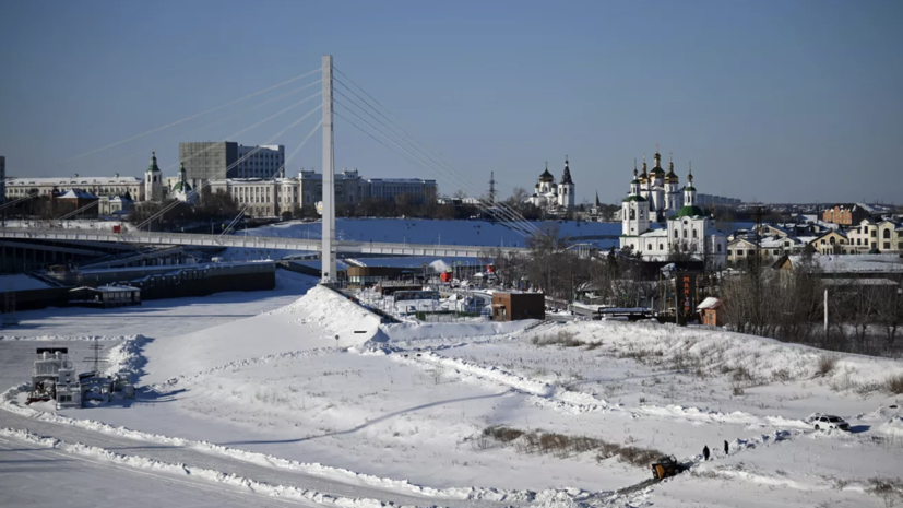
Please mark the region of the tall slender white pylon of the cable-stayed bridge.
POLYGON ((332 141, 332 55, 323 55, 323 240, 320 283, 336 280, 335 250, 335 153, 332 141))

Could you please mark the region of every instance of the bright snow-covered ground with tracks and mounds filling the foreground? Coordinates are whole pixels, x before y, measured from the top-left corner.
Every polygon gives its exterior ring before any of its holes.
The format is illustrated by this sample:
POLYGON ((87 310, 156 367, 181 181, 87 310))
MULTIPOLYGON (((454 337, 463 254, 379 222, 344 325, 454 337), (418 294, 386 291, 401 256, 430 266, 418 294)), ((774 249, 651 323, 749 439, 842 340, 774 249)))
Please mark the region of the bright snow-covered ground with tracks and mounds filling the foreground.
MULTIPOLYGON (((41 413, 13 389, 0 428, 19 430, 0 448, 183 464, 226 494, 343 506, 879 507, 875 482, 903 469, 903 397, 884 387, 900 361, 653 322, 381 324, 331 290, 283 291, 233 303, 256 309, 243 319, 198 307, 191 326, 170 308, 124 327, 143 336, 110 358, 136 400, 41 413), (851 432, 815 432, 816 412, 851 432), (650 477, 630 459, 645 449, 692 468, 617 494, 650 477)), ((44 319, 43 334, 73 334, 44 319)))

